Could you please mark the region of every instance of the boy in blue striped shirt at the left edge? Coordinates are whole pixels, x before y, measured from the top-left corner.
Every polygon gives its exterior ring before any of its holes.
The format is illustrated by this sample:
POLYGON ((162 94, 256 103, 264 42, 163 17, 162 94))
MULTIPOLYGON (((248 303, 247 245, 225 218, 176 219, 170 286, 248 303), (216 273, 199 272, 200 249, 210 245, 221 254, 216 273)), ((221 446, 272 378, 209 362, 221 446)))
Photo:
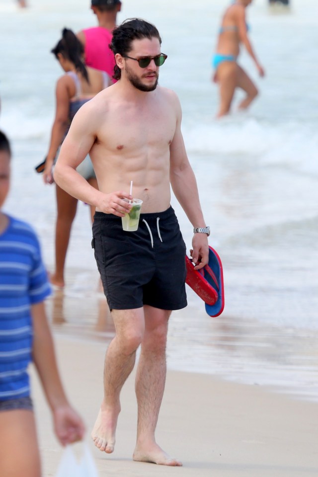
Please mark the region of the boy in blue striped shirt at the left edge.
POLYGON ((51 293, 33 229, 4 214, 10 145, 0 131, 0 476, 40 477, 27 367, 34 362, 62 445, 82 439, 84 425, 64 393, 44 300, 51 293))

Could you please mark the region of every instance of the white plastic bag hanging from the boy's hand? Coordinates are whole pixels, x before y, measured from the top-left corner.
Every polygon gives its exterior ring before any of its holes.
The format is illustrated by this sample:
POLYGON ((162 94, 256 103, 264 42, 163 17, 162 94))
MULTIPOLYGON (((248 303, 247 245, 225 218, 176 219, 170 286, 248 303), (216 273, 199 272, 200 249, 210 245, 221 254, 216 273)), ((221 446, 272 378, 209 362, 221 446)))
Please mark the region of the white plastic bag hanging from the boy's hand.
POLYGON ((83 443, 83 452, 80 461, 77 460, 72 446, 67 446, 55 477, 98 477, 97 469, 88 449, 83 443))

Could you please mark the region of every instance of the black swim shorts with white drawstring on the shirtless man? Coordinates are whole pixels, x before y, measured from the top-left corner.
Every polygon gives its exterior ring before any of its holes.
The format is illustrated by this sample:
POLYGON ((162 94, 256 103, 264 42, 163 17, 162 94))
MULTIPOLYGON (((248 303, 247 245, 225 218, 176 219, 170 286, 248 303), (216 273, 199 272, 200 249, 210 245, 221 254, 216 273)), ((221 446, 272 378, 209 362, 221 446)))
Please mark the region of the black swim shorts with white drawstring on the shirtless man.
POLYGON ((186 247, 172 207, 141 214, 136 232, 123 231, 120 217, 96 212, 92 230, 92 247, 110 310, 187 306, 186 247))

